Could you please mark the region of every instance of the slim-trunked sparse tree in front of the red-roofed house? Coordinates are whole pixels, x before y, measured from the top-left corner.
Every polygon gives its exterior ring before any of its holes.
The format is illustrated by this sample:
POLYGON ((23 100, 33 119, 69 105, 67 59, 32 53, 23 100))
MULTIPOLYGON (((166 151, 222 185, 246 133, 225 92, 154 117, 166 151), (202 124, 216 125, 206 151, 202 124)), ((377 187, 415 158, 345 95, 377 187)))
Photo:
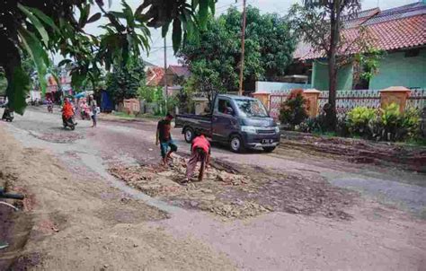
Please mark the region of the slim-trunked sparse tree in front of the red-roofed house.
POLYGON ((348 54, 353 49, 362 51, 367 41, 367 31, 359 30, 359 38, 349 40, 342 36, 343 21, 356 15, 359 0, 304 0, 305 6, 295 4, 289 11, 294 29, 303 34, 303 39, 317 52, 324 53, 328 62, 329 100, 326 119, 328 126, 335 128, 336 87, 339 66, 348 63, 348 54), (363 44, 361 44, 363 42, 363 44))

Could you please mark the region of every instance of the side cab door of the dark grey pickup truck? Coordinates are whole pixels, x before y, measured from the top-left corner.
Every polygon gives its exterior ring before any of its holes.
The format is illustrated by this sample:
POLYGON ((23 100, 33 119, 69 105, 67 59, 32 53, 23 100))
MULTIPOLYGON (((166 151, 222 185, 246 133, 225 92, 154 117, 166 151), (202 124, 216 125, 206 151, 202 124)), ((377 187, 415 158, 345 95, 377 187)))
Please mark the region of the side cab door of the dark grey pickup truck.
POLYGON ((211 118, 212 139, 226 142, 228 136, 236 129, 236 111, 230 99, 219 97, 215 102, 211 118))

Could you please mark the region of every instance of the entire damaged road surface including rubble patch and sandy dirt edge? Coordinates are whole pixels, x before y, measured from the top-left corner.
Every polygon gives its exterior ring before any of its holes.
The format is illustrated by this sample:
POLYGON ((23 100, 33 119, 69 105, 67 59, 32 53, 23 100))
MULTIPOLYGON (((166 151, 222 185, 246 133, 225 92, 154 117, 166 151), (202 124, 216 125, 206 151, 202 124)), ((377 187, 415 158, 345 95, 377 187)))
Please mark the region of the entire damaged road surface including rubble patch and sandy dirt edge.
POLYGON ((22 229, 28 238, 4 250, 2 263, 30 270, 425 266, 421 173, 286 145, 271 154, 215 145, 207 179, 182 186, 190 146, 179 130, 178 156, 164 169, 152 121, 101 120, 96 129, 80 121, 64 136, 55 131, 60 123, 32 109, 0 123, 0 170, 32 199, 22 213, 30 217, 22 229))

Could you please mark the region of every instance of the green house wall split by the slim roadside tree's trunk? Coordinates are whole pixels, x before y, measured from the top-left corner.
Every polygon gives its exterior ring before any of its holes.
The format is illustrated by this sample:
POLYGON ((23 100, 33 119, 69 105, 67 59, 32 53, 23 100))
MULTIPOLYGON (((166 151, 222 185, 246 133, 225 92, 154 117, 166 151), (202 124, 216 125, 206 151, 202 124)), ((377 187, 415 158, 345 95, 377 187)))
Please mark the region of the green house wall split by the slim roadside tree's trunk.
MULTIPOLYGON (((344 66, 339 69, 337 73, 337 89, 338 90, 351 90, 353 79, 352 66, 344 66)), ((328 65, 324 62, 313 63, 312 70, 312 87, 319 91, 328 91, 328 65)))

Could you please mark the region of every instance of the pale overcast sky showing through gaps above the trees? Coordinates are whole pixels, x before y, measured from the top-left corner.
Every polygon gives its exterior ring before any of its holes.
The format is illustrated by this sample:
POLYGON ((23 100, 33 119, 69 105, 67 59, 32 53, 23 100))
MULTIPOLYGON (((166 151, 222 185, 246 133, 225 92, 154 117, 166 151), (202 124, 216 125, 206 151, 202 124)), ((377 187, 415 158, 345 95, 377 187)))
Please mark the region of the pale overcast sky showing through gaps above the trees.
MULTIPOLYGON (((105 1, 107 2, 107 1, 105 1)), ((111 10, 118 11, 120 10, 119 0, 113 0, 111 5, 111 10)), ((141 0, 126 0, 126 2, 134 10, 142 2, 141 0)), ((238 0, 235 3, 235 0, 218 0, 216 4, 217 14, 225 13, 230 6, 236 6, 238 9, 242 9, 242 0, 238 0)), ((286 14, 288 8, 291 4, 295 4, 297 0, 247 0, 247 4, 251 4, 261 10, 262 13, 280 13, 282 15, 286 14)), ((412 4, 418 2, 418 0, 362 0, 362 9, 370 9, 374 7, 379 7, 381 10, 392 8, 404 4, 412 4)), ((93 9, 92 13, 96 13, 98 10, 93 9)), ((88 24, 86 26, 86 31, 99 34, 102 32, 98 28, 99 25, 106 22, 104 18, 98 22, 88 24)), ((164 39, 161 38, 161 32, 159 30, 151 29, 151 51, 148 56, 143 57, 146 61, 151 62, 157 66, 164 66, 164 39)), ((171 33, 166 39, 167 46, 172 45, 171 33)), ((167 53, 167 65, 177 64, 177 59, 173 57, 173 48, 166 48, 167 53)))

